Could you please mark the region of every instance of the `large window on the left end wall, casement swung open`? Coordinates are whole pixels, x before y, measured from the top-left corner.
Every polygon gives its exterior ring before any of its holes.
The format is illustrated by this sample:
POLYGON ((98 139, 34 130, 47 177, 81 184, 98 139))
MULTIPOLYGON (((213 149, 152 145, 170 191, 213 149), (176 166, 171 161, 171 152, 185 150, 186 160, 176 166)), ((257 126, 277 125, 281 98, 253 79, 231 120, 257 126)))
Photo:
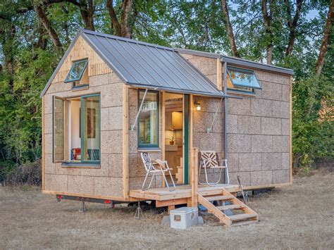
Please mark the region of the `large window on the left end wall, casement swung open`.
MULTIPOLYGON (((63 163, 62 165, 68 166, 99 165, 101 163, 101 94, 85 94, 80 96, 81 157, 80 160, 76 161, 72 158, 70 143, 66 144, 66 138, 70 136, 70 130, 72 130, 71 125, 67 125, 66 123, 68 119, 71 119, 69 116, 68 101, 70 99, 53 96, 53 162, 63 163), (99 104, 96 104, 97 102, 99 104), (66 154, 66 151, 69 153, 66 154)), ((69 140, 70 138, 68 138, 69 140)))

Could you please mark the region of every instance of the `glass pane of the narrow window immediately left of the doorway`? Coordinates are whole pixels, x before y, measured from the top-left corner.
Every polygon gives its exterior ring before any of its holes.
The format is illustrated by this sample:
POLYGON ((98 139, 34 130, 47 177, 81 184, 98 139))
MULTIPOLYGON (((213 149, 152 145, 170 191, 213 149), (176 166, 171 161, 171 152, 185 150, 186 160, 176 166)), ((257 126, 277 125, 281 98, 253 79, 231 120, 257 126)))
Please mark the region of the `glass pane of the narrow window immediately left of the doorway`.
MULTIPOLYGON (((140 90, 139 93, 138 106, 142 103, 144 91, 140 90)), ((139 146, 158 146, 158 100, 158 92, 147 92, 138 121, 139 146)))

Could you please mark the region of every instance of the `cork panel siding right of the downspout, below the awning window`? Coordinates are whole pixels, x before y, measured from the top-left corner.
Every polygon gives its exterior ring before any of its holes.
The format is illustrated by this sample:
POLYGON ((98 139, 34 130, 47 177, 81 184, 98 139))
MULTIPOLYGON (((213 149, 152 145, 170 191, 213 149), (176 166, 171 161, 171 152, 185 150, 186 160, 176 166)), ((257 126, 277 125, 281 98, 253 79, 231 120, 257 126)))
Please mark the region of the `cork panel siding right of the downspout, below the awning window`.
POLYGON ((290 77, 256 71, 262 89, 256 96, 228 99, 230 180, 243 185, 290 182, 290 77))

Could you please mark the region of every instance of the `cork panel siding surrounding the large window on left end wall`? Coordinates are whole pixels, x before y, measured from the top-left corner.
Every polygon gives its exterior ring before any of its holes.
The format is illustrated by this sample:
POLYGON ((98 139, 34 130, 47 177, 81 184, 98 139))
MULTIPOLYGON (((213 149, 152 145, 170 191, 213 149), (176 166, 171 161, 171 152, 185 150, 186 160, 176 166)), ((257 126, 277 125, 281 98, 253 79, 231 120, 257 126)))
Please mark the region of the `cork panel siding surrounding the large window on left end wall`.
MULTIPOLYGON (((122 117, 123 82, 113 74, 89 77, 89 89, 56 92, 51 84, 44 96, 44 169, 45 189, 56 192, 122 196, 122 117), (62 168, 52 163, 52 96, 70 98, 82 94, 101 93, 101 168, 62 168), (82 183, 87 183, 83 185, 82 183)), ((61 85, 64 85, 61 82, 61 85)))

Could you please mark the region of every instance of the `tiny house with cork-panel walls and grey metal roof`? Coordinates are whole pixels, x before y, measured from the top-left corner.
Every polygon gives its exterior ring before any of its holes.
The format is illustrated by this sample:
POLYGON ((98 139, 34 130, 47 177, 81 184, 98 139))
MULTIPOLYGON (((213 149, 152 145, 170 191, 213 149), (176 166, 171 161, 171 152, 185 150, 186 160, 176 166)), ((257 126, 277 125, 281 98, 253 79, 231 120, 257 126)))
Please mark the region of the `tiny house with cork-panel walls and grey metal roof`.
MULTIPOLYGON (((240 190, 237 175, 249 190, 290 184, 292 74, 80 30, 41 94, 43 192, 190 206, 197 185, 193 149, 227 158, 232 193, 240 190), (141 189, 143 151, 168 161, 175 192, 161 175, 151 189, 141 189)), ((197 192, 222 189, 199 186, 197 192)))

